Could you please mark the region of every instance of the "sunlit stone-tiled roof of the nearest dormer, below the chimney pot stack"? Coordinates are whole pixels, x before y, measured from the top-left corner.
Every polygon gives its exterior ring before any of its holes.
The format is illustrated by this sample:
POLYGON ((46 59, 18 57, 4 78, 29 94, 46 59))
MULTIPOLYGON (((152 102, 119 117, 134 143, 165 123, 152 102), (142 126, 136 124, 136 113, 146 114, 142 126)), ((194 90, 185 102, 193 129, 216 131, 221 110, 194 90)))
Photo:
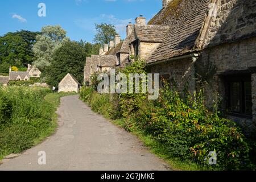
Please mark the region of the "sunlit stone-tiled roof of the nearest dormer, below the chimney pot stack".
POLYGON ((166 38, 169 26, 160 26, 155 24, 135 24, 135 35, 142 42, 162 43, 166 38))

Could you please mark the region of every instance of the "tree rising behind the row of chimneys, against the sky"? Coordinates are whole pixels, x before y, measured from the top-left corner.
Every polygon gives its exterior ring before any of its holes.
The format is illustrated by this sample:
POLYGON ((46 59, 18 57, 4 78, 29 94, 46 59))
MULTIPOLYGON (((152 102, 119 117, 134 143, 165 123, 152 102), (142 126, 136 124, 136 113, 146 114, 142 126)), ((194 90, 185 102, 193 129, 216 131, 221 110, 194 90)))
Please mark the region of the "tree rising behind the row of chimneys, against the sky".
POLYGON ((109 40, 114 40, 117 31, 115 31, 115 26, 112 24, 95 24, 96 35, 94 36, 94 42, 100 43, 101 45, 108 44, 109 40))

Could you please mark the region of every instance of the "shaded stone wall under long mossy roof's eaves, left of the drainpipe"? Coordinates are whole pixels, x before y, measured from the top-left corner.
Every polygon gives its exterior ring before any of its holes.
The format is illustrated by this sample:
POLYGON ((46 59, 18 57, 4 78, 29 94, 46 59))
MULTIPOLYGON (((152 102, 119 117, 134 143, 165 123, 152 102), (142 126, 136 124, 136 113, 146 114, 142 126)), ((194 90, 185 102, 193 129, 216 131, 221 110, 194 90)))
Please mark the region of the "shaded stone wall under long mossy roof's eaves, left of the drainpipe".
POLYGON ((148 67, 151 73, 159 73, 159 76, 170 76, 169 81, 175 83, 179 90, 188 86, 188 90, 195 91, 195 67, 191 59, 183 59, 160 63, 148 67))

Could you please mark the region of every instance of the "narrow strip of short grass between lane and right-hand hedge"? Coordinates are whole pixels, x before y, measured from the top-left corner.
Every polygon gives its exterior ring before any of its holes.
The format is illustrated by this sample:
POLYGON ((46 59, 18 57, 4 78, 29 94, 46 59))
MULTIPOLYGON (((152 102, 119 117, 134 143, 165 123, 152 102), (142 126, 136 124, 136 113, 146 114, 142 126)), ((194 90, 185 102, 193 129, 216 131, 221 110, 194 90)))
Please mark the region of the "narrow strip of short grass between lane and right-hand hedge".
MULTIPOLYGON (((108 118, 109 119, 109 118, 108 118)), ((116 119, 111 120, 114 125, 124 128, 125 127, 125 119, 116 119)), ((192 163, 191 161, 181 161, 179 158, 170 158, 165 147, 160 143, 156 142, 152 137, 148 134, 145 134, 143 131, 131 131, 131 134, 138 137, 144 145, 156 156, 163 159, 167 162, 172 170, 175 171, 208 171, 209 169, 206 167, 202 167, 199 164, 192 163)))

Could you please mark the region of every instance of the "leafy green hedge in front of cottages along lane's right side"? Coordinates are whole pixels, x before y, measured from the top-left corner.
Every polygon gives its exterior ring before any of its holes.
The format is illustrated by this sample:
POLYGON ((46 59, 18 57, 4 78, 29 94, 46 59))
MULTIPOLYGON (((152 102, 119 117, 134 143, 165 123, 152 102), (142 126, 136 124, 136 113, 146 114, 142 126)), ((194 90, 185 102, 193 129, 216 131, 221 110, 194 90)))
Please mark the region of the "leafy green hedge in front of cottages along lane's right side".
MULTIPOLYGON (((133 71, 133 67, 138 71, 138 65, 130 65, 123 72, 133 71)), ((80 98, 105 117, 122 118, 127 131, 150 135, 164 146, 170 158, 189 160, 209 169, 254 169, 251 148, 236 123, 221 118, 218 111, 209 111, 202 91, 188 93, 185 98, 183 95, 166 85, 156 101, 147 100, 143 94, 98 94, 93 88, 82 88, 80 98), (217 154, 217 165, 209 165, 211 151, 217 154)))

